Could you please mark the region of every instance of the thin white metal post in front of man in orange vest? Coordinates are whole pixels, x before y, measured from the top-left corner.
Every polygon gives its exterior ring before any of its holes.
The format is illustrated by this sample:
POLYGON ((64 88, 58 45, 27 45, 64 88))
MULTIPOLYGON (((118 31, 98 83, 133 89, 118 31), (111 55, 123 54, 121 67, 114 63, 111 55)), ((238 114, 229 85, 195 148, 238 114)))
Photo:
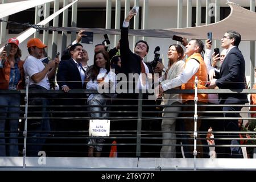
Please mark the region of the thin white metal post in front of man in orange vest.
POLYGON ((197 76, 195 78, 195 114, 194 114, 194 170, 196 170, 196 155, 197 155, 197 150, 196 150, 196 138, 197 138, 197 84, 198 84, 198 79, 197 76))

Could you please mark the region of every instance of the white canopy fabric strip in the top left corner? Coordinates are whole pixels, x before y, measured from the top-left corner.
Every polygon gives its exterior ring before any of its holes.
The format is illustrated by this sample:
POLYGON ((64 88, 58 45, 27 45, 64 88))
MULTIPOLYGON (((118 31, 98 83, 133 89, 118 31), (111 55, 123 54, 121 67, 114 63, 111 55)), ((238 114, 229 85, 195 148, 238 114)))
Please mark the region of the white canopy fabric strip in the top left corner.
POLYGON ((20 2, 11 2, 0 5, 0 18, 9 16, 20 11, 30 9, 38 5, 43 5, 44 3, 51 2, 54 0, 30 0, 30 1, 20 1, 20 2))

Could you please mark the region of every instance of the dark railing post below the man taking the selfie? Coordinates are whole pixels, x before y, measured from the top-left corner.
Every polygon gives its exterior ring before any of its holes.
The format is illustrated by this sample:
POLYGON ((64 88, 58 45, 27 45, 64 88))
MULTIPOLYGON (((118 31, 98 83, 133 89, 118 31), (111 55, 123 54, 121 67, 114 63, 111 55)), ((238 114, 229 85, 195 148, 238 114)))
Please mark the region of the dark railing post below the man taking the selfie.
POLYGON ((142 90, 139 90, 138 98, 138 123, 137 123, 137 144, 136 144, 136 156, 141 156, 141 126, 142 126, 142 90))

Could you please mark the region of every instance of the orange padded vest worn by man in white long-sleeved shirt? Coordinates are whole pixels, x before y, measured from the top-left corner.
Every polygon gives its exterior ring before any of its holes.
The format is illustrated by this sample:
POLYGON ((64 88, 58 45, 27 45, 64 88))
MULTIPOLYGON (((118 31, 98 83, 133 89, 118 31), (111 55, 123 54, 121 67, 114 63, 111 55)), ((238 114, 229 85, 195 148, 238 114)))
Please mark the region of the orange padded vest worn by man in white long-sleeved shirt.
MULTIPOLYGON (((198 85, 197 89, 207 89, 205 87, 205 83, 208 80, 208 75, 207 75, 207 66, 204 62, 203 57, 201 56, 200 53, 194 53, 188 59, 186 59, 185 64, 187 63, 188 60, 195 58, 200 62, 200 66, 198 71, 196 72, 195 75, 193 75, 187 82, 187 84, 182 84, 181 89, 195 89, 195 78, 197 76, 198 79, 198 85)), ((182 94, 182 100, 183 102, 189 101, 189 100, 194 100, 195 94, 182 94)), ((200 102, 208 102, 208 94, 198 94, 198 101, 200 102)))

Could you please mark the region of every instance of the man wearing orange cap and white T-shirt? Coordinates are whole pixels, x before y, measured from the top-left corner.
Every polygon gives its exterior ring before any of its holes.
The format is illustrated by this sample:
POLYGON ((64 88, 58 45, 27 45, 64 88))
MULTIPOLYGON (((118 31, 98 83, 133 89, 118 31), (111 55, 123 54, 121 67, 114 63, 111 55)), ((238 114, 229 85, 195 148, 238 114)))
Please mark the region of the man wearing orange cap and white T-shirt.
MULTIPOLYGON (((30 55, 24 63, 24 72, 25 76, 29 77, 29 90, 50 89, 49 78, 55 75, 58 60, 49 61, 48 64, 44 65, 40 57, 42 57, 45 47, 47 46, 38 38, 32 38, 27 42, 28 53, 30 53, 30 55)), ((48 105, 48 100, 42 96, 36 96, 35 94, 29 98, 29 105, 48 105)), ((49 119, 44 119, 49 117, 46 107, 40 107, 36 111, 42 111, 43 119, 31 119, 28 122, 28 137, 31 138, 28 138, 27 143, 38 143, 39 145, 28 145, 28 156, 38 156, 38 151, 42 150, 42 143, 46 140, 40 137, 47 137, 48 135, 47 132, 40 133, 36 131, 50 131, 49 119), (30 130, 35 132, 30 133, 30 130)), ((36 115, 36 117, 38 117, 38 115, 36 115)))

